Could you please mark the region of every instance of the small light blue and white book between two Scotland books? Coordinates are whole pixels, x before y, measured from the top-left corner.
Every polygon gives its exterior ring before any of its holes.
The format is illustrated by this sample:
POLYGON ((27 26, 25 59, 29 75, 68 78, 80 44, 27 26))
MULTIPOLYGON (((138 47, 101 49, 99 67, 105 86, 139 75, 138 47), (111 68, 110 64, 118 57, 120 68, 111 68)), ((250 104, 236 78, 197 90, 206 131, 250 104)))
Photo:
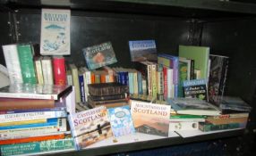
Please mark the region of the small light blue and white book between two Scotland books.
POLYGON ((135 133, 129 105, 110 108, 107 111, 115 137, 135 133))

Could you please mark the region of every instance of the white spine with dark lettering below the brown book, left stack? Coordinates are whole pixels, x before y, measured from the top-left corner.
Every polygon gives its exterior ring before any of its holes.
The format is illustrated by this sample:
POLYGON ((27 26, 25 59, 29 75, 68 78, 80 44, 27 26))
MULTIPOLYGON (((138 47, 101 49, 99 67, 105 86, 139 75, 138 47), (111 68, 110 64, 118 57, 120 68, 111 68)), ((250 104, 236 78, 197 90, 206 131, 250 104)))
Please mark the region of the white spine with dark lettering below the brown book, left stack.
POLYGON ((20 120, 30 119, 49 119, 66 117, 66 111, 38 111, 38 112, 24 112, 15 114, 0 115, 1 122, 14 122, 20 120))

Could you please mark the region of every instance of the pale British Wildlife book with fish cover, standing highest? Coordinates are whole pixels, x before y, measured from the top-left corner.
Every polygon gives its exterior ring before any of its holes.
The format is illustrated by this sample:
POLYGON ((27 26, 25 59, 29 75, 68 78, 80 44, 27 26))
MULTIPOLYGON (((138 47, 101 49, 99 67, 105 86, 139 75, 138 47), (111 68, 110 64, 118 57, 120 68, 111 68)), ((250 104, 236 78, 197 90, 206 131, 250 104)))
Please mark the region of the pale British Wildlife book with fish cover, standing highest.
POLYGON ((70 10, 42 9, 40 53, 70 54, 70 10))

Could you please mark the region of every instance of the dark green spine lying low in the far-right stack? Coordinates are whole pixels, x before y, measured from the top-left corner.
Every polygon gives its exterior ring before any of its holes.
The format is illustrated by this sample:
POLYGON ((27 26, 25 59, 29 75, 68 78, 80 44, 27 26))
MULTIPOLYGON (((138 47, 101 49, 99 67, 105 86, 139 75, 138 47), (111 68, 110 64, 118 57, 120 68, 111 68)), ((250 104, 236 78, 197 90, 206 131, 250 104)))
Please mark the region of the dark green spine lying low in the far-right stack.
POLYGON ((221 125, 213 125, 213 124, 205 124, 200 123, 199 128, 203 132, 215 131, 215 130, 225 130, 225 129, 234 129, 243 127, 243 124, 240 123, 229 123, 229 124, 221 124, 221 125))

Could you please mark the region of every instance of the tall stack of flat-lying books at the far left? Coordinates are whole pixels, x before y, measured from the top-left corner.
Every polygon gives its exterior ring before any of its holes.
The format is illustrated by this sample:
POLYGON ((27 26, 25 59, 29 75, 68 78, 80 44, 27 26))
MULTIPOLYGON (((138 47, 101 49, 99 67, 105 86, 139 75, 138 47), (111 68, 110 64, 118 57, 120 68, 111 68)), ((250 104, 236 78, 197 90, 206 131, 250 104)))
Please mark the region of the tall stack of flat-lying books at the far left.
POLYGON ((13 84, 0 89, 2 155, 73 150, 67 124, 72 86, 13 84), (43 144, 52 144, 44 147, 43 144), (54 144, 63 144, 54 146, 54 144), (28 148, 30 147, 30 148, 28 148), (9 149, 9 150, 8 150, 9 149))

